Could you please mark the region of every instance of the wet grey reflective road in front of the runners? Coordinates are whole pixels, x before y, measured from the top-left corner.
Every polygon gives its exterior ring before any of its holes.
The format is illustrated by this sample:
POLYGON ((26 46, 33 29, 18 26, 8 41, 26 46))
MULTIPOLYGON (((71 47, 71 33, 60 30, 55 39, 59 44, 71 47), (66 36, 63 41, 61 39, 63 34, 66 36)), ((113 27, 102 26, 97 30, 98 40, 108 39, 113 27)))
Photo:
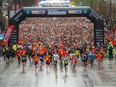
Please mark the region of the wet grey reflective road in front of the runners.
POLYGON ((6 66, 2 59, 0 62, 0 87, 116 87, 116 60, 103 62, 103 67, 98 68, 97 62, 91 69, 82 66, 81 60, 75 69, 68 65, 67 71, 58 64, 47 71, 38 68, 35 72, 34 64, 26 64, 25 72, 22 65, 18 66, 17 60, 6 66))

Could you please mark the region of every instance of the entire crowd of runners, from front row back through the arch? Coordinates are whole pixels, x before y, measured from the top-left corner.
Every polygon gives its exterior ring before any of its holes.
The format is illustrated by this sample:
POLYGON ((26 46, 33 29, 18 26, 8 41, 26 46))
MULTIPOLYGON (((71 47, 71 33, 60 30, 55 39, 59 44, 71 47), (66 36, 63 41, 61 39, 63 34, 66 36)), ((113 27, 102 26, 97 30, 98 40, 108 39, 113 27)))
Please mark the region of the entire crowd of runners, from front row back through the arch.
POLYGON ((86 18, 27 18, 20 25, 19 42, 9 48, 3 47, 6 64, 17 59, 18 65, 27 61, 35 65, 35 70, 46 64, 58 64, 75 68, 77 61, 83 67, 93 67, 94 60, 100 68, 104 58, 113 59, 113 44, 108 41, 111 34, 106 32, 105 45, 94 46, 94 25, 86 18), (109 36, 109 37, 108 37, 109 36))

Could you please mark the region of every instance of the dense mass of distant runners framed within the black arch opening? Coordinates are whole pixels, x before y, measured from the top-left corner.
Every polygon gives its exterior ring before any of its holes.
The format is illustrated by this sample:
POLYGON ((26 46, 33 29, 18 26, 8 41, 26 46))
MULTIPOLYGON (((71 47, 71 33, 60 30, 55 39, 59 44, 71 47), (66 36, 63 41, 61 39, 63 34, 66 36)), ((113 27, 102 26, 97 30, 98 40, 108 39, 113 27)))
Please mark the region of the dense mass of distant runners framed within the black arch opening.
POLYGON ((28 18, 20 25, 19 39, 31 44, 80 46, 93 42, 93 28, 93 23, 85 18, 28 18))

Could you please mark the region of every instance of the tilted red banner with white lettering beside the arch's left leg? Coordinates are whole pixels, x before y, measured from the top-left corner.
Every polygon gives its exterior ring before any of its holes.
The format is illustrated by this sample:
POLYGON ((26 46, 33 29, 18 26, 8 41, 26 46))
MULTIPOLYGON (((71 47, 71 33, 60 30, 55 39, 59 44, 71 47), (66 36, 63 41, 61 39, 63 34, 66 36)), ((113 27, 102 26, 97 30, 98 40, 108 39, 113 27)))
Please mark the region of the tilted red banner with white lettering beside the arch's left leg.
POLYGON ((6 33, 4 35, 4 38, 2 40, 2 45, 6 45, 8 43, 10 35, 11 35, 13 30, 14 30, 14 26, 13 25, 8 26, 8 28, 6 30, 6 33))

